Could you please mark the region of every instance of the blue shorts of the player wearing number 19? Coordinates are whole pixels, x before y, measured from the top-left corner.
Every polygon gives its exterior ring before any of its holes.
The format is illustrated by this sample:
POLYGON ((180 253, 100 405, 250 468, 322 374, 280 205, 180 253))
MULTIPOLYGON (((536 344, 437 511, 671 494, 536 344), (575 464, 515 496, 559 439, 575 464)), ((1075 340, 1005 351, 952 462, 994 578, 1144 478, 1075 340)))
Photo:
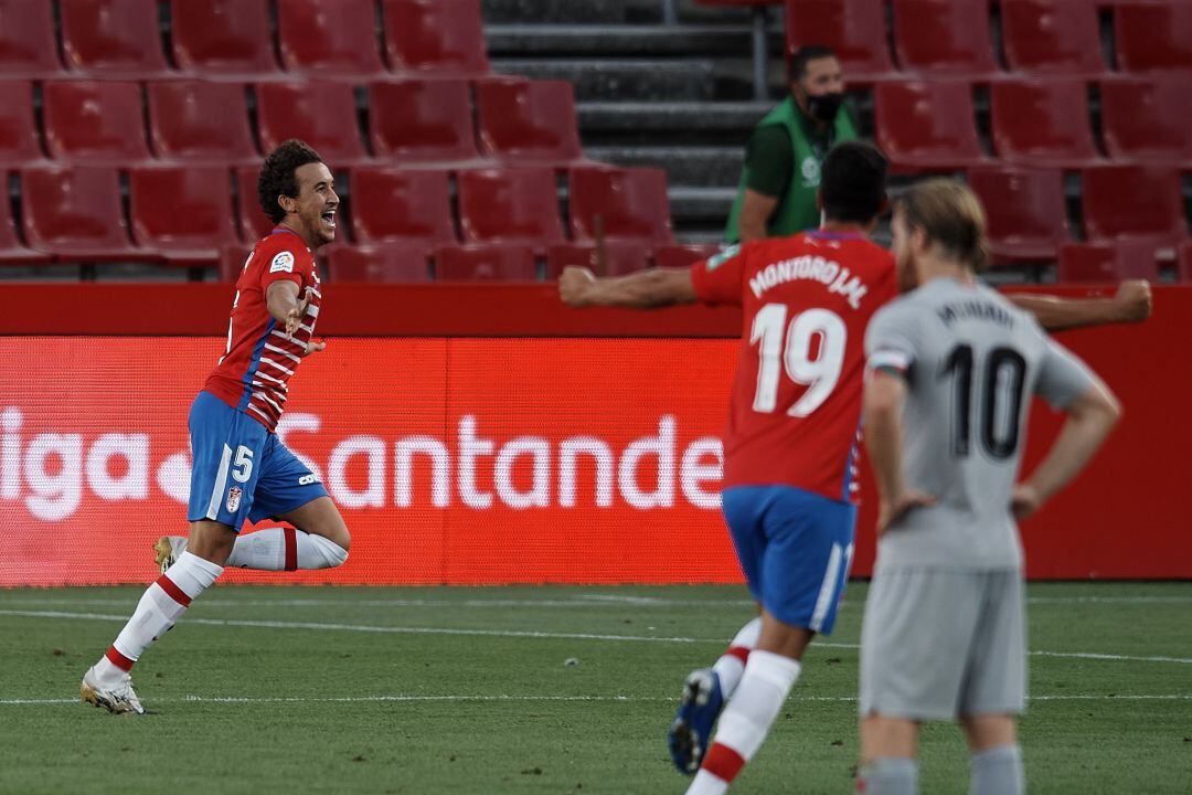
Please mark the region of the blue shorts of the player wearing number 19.
POLYGON ((832 634, 856 505, 794 486, 733 486, 721 499, 753 598, 783 623, 832 634))

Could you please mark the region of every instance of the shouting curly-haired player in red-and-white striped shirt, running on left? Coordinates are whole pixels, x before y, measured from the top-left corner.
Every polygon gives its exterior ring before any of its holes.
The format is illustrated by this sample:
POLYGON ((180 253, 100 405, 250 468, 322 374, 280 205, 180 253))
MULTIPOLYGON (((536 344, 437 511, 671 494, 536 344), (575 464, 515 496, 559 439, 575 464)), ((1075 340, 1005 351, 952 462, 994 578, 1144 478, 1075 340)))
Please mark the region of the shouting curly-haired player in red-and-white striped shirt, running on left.
POLYGON ((313 339, 323 300, 313 253, 335 240, 340 198, 318 153, 300 141, 286 141, 266 159, 257 195, 277 225, 244 262, 226 347, 191 406, 190 536, 157 542, 161 577, 80 688, 85 702, 113 713, 144 712, 132 689, 134 664, 224 566, 292 571, 348 558, 343 517, 274 434, 290 379, 305 356, 325 348, 313 339), (297 529, 240 535, 246 520, 269 517, 297 529))

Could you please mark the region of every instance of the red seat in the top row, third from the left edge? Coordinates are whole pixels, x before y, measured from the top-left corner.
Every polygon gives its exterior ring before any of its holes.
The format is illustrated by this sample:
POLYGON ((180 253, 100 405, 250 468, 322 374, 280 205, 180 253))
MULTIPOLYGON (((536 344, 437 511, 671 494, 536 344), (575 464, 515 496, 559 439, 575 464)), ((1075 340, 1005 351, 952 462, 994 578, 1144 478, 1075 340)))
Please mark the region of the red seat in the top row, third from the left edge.
POLYGON ((268 0, 172 0, 170 12, 179 69, 207 79, 246 81, 280 74, 268 0))

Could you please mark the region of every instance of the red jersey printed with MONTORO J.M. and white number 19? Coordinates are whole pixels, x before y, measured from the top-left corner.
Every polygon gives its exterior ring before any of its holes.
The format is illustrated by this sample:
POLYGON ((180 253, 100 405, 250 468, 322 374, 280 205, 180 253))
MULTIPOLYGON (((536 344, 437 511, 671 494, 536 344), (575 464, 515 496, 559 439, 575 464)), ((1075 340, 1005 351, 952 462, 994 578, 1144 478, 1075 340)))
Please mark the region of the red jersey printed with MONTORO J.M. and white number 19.
POLYGON ((861 235, 751 241, 697 262, 696 296, 744 310, 724 487, 789 485, 856 502, 865 327, 898 292, 861 235))

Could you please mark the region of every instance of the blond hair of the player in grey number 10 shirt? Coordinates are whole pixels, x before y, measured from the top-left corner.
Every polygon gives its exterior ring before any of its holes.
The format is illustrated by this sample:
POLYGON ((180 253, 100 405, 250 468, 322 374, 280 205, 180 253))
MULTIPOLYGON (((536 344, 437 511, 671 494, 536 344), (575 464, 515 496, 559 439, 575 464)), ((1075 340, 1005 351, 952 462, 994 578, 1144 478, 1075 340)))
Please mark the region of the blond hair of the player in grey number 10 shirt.
POLYGON ((943 178, 919 182, 899 197, 895 210, 907 229, 921 229, 931 243, 975 273, 989 267, 985 209, 967 185, 943 178))

